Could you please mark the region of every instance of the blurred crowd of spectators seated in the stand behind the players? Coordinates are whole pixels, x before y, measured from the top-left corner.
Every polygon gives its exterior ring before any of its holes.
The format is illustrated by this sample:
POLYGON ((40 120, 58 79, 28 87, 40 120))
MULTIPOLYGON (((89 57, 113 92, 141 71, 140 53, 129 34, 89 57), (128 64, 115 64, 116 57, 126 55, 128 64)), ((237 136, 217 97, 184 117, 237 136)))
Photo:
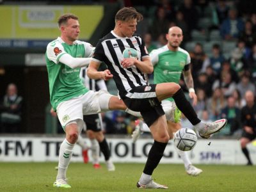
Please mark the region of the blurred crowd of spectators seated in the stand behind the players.
MULTIPOLYGON (((144 20, 138 23, 137 32, 143 36, 148 52, 166 44, 165 34, 170 27, 182 29, 184 40, 180 47, 191 56, 198 97, 198 104, 194 106, 196 112, 205 121, 227 118, 227 129, 221 134, 230 136, 241 131, 239 116, 246 104, 244 93, 247 90, 255 93, 256 89, 256 11, 253 1, 122 3, 134 6, 143 14, 144 20)), ((152 82, 152 75, 149 77, 152 82)), ((180 85, 188 92, 182 79, 180 85)), ((135 118, 126 113, 114 111, 104 113, 102 117, 106 134, 131 134, 134 129, 135 118)))

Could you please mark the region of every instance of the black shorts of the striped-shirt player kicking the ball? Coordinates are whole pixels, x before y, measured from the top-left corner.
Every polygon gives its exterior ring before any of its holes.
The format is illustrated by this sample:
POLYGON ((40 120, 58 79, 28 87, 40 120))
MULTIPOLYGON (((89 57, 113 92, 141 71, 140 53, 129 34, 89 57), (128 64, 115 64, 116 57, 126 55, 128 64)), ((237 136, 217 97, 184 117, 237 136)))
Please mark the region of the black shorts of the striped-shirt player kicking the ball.
POLYGON ((159 116, 164 115, 161 102, 156 97, 156 84, 137 86, 124 97, 125 105, 132 111, 140 111, 145 123, 150 127, 159 116))

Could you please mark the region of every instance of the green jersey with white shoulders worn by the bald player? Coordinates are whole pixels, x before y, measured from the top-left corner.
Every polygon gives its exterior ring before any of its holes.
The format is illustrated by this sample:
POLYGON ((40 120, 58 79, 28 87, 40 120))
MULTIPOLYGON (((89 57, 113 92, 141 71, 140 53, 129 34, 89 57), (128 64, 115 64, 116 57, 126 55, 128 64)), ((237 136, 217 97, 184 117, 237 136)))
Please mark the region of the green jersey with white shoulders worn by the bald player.
MULTIPOLYGON (((179 47, 178 51, 170 51, 167 45, 150 52, 154 65, 154 83, 174 82, 179 84, 182 70, 189 65, 189 53, 179 47)), ((168 100, 173 101, 172 98, 168 100)))

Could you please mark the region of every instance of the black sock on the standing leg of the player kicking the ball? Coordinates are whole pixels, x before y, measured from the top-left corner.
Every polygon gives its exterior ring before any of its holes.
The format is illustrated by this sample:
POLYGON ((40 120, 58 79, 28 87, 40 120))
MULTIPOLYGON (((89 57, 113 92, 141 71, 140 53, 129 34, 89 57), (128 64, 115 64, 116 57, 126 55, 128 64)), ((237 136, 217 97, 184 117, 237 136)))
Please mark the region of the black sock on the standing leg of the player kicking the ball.
POLYGON ((156 140, 154 141, 152 147, 150 148, 150 151, 148 152, 148 159, 147 163, 145 164, 143 173, 147 175, 152 175, 154 169, 157 167, 161 158, 163 157, 166 145, 167 143, 161 143, 156 140))

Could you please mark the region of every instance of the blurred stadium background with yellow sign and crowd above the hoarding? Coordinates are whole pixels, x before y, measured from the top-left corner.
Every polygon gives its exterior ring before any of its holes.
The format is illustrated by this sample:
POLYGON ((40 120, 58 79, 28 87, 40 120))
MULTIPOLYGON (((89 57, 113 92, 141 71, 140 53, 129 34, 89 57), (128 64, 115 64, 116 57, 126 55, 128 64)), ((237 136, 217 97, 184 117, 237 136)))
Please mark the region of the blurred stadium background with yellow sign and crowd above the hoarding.
MULTIPOLYGON (((115 13, 123 6, 134 6, 143 14, 136 33, 143 37, 148 52, 166 44, 168 28, 182 29, 180 47, 191 56, 196 112, 205 121, 228 119, 225 131, 216 138, 240 138, 244 93, 255 93, 256 1, 250 0, 0 0, 0 113, 9 110, 14 115, 13 122, 1 121, 1 134, 63 134, 50 113, 44 58, 46 45, 60 35, 58 17, 77 15, 80 40, 95 46, 114 28, 115 13), (6 109, 4 95, 13 94, 20 96, 20 102, 6 109)), ((152 75, 149 78, 152 81, 152 75)), ((116 95, 115 83, 106 83, 116 95)), ((182 79, 180 85, 188 93, 182 79)), ((132 116, 120 111, 102 116, 106 134, 129 136, 134 130, 132 116)), ((191 127, 186 118, 182 124, 191 127)))

